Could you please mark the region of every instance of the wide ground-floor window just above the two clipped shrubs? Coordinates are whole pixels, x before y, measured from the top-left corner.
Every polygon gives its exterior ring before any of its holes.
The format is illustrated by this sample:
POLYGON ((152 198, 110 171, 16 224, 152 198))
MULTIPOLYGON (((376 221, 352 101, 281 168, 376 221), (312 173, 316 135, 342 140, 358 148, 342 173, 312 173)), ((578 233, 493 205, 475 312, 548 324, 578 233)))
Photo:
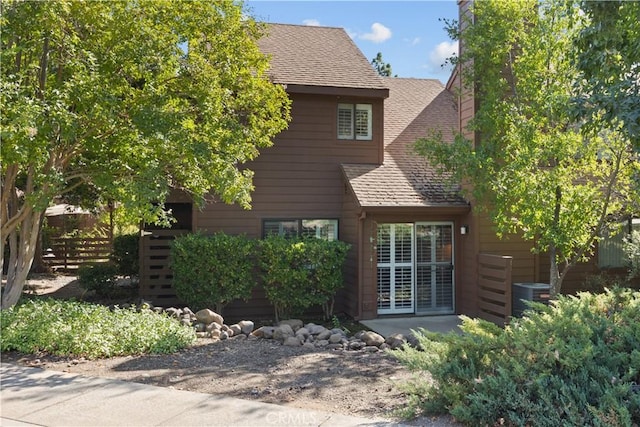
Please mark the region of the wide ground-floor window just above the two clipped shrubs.
POLYGON ((262 226, 264 237, 277 234, 284 237, 315 237, 338 240, 337 219, 266 219, 262 226))

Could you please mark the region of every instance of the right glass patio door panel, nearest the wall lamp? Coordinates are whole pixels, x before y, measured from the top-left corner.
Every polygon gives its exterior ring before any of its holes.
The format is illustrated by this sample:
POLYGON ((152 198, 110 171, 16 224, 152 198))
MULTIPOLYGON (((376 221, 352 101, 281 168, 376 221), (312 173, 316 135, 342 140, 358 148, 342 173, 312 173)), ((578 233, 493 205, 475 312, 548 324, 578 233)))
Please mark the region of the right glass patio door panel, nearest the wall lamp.
POLYGON ((453 224, 417 223, 416 314, 454 313, 453 224))

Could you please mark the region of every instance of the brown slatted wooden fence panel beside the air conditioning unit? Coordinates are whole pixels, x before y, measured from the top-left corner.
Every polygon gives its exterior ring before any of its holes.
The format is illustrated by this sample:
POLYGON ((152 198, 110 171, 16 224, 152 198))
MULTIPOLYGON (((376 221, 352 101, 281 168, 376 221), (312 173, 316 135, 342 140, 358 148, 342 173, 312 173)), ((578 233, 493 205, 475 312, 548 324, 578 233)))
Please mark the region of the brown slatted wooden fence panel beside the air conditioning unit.
POLYGON ((510 256, 478 255, 479 317, 503 326, 511 317, 510 256))

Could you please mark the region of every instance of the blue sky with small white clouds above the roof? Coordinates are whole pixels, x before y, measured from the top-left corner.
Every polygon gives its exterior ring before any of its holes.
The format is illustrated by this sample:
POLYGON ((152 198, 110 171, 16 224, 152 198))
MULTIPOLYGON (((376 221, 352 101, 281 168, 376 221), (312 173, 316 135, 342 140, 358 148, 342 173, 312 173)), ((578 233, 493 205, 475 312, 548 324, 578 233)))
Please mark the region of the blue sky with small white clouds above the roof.
POLYGON ((381 52, 398 77, 446 83, 450 68, 441 65, 458 50, 438 20, 457 19, 455 0, 247 0, 245 5, 259 21, 344 28, 369 61, 381 52))

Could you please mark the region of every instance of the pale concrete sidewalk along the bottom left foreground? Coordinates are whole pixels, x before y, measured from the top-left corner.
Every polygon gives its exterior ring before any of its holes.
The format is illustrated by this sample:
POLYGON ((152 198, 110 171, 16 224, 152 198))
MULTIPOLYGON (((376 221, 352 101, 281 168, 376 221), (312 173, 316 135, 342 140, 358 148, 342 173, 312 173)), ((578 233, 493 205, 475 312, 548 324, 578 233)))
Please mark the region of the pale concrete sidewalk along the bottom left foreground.
POLYGON ((10 363, 0 365, 0 381, 0 426, 400 425, 10 363))

